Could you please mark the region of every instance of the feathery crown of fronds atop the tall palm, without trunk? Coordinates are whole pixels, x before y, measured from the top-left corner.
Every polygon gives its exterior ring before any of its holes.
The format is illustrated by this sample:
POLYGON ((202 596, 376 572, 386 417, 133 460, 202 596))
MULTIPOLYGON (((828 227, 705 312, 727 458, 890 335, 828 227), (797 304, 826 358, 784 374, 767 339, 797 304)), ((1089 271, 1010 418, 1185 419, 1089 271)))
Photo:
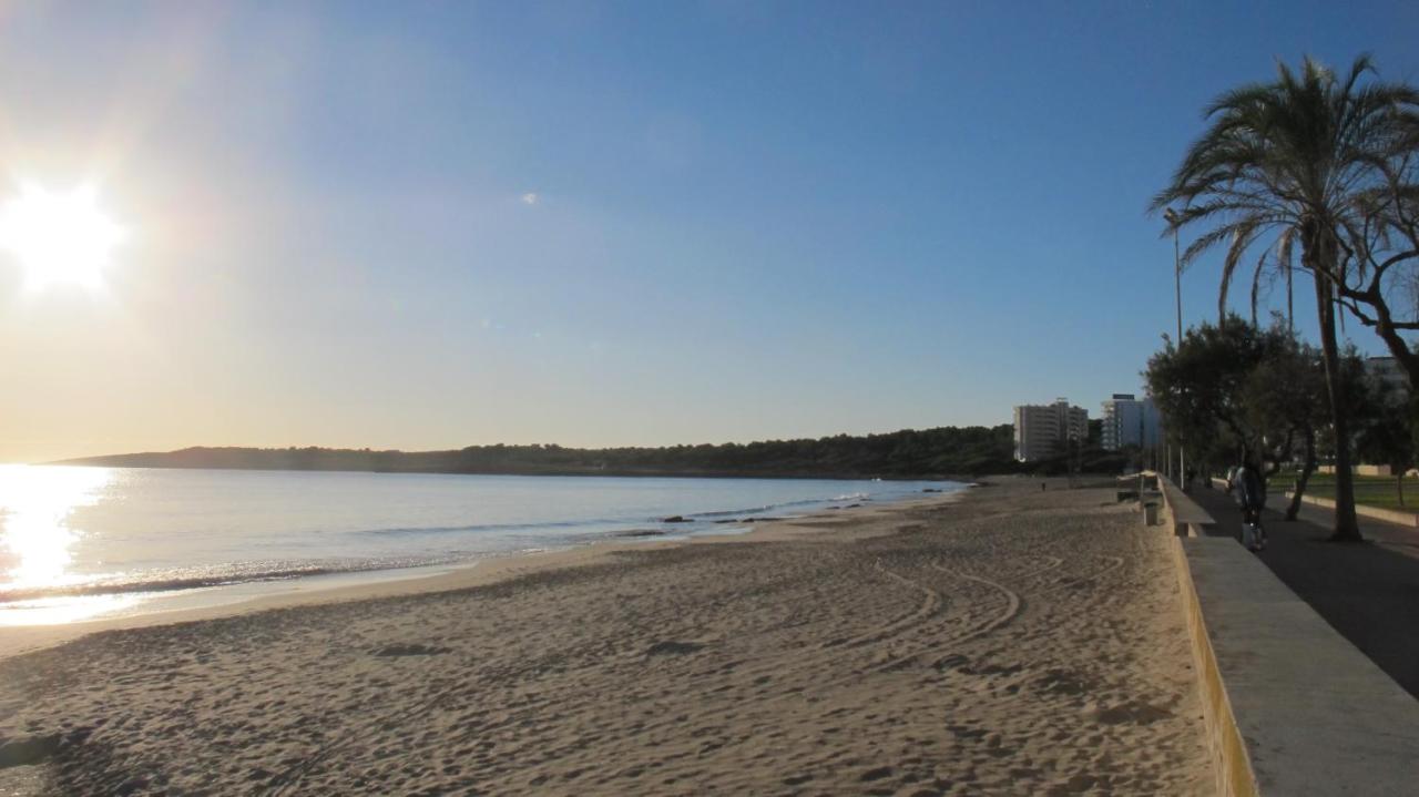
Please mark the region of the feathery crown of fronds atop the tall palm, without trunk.
POLYGON ((1419 248, 1419 89, 1381 81, 1368 54, 1340 77, 1310 55, 1276 69, 1274 81, 1236 87, 1203 108, 1206 128, 1148 206, 1176 210, 1164 234, 1202 230, 1185 264, 1227 243, 1222 313, 1240 258, 1274 233, 1252 275, 1253 321, 1269 268, 1291 285, 1298 244, 1300 268, 1341 282, 1368 279, 1365 252, 1393 235, 1419 248))

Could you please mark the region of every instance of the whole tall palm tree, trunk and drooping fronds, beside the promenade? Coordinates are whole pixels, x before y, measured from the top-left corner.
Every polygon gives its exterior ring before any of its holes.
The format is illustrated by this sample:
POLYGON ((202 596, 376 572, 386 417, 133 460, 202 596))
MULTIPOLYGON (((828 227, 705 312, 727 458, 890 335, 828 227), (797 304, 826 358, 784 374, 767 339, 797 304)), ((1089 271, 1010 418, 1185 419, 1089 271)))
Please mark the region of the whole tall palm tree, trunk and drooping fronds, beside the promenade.
POLYGON ((1249 250, 1260 247, 1259 264, 1270 257, 1287 272, 1293 250, 1300 250, 1300 269, 1315 284, 1335 433, 1332 539, 1340 540, 1361 539, 1335 336, 1337 282, 1344 282, 1347 268, 1355 268, 1342 238, 1345 230, 1358 227, 1364 194, 1384 180, 1385 165, 1406 140, 1412 145, 1401 112, 1412 89, 1378 81, 1361 85, 1366 72, 1374 72, 1368 55, 1355 60, 1344 81, 1307 57, 1300 72, 1279 64, 1274 82, 1223 94, 1205 112, 1210 126, 1149 207, 1154 213, 1181 207, 1168 233, 1193 223, 1210 225, 1186 248, 1183 262, 1226 243, 1219 309, 1225 309, 1227 288, 1249 250))

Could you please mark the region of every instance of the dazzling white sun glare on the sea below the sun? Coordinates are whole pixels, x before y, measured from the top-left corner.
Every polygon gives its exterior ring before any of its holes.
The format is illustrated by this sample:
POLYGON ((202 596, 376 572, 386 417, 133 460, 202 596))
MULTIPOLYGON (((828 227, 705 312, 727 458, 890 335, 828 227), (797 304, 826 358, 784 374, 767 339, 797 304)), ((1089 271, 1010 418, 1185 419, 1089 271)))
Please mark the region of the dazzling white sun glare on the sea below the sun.
POLYGON ((0 465, 0 594, 81 580, 70 564, 84 530, 71 515, 112 481, 109 468, 0 465))

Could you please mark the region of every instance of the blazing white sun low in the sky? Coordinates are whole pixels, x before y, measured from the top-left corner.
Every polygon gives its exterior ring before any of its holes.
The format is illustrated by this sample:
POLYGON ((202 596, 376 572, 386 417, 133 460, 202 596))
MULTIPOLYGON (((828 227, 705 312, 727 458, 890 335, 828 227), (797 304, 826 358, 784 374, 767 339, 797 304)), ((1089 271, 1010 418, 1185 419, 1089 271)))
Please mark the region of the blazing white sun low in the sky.
POLYGON ((94 186, 68 193, 23 186, 0 207, 0 250, 20 261, 30 288, 99 288, 122 238, 123 228, 99 208, 94 186))

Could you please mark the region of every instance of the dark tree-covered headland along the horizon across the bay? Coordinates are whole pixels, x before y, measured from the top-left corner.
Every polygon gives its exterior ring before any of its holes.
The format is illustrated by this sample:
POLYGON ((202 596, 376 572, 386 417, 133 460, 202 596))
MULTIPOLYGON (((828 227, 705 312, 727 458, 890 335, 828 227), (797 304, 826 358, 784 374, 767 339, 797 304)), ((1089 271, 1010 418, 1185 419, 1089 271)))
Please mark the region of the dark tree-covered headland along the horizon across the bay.
MULTIPOLYGON (((231 468, 606 476, 944 479, 1019 468, 1012 427, 938 427, 888 434, 663 448, 470 445, 448 451, 369 448, 183 448, 54 462, 115 468, 231 468)), ((1030 464, 1030 469, 1039 465, 1030 464)))

